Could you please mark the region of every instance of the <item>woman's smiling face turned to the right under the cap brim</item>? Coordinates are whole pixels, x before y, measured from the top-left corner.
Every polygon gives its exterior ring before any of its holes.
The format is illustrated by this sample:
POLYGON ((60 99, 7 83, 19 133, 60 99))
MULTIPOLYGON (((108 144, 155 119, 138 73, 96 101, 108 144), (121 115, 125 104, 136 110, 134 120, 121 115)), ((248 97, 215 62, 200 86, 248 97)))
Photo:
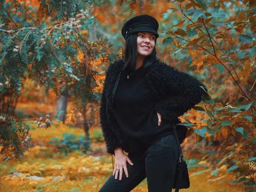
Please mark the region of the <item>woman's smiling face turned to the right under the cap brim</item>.
POLYGON ((151 32, 138 32, 137 50, 138 57, 146 57, 151 54, 155 47, 155 35, 151 32))

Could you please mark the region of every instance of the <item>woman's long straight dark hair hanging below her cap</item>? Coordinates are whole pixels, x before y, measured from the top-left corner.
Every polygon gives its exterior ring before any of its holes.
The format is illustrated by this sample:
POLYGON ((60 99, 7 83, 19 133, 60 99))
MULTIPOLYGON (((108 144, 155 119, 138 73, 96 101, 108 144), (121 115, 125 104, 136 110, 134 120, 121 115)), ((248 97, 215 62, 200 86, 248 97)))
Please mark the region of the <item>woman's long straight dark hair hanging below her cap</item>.
MULTIPOLYGON (((137 62, 137 33, 131 33, 128 35, 126 41, 125 41, 125 64, 122 67, 121 71, 128 70, 128 71, 134 71, 136 68, 136 62, 137 62)), ((156 44, 157 39, 155 39, 156 44)), ((151 63, 160 60, 157 58, 157 50, 156 47, 154 47, 153 51, 150 55, 146 56, 143 65, 144 70, 145 68, 150 65, 151 63)))

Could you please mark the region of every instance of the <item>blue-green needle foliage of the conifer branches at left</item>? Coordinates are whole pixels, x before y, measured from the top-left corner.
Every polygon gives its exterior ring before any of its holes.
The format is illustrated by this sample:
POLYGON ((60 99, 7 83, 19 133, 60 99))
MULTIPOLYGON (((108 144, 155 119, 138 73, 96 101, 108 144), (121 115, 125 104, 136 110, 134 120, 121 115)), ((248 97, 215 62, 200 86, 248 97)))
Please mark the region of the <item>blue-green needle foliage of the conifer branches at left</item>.
MULTIPOLYGON (((52 88, 58 98, 68 90, 76 114, 86 111, 90 103, 96 105, 93 110, 98 110, 101 92, 94 90, 98 87, 98 72, 92 63, 103 54, 107 64, 119 56, 109 51, 112 44, 104 37, 88 40, 86 31, 92 25, 99 26, 92 11, 98 3, 40 0, 37 12, 36 7, 27 12, 17 0, 0 1, 0 102, 7 103, 0 108, 0 146, 6 160, 22 157, 21 144, 30 138, 29 123, 9 111, 9 104, 17 102, 20 82, 26 76, 47 93, 52 88), (16 12, 8 14, 13 9, 16 12), (77 58, 79 52, 81 60, 77 58)), ((53 124, 49 117, 44 122, 42 118, 35 122, 38 127, 53 124)), ((93 122, 96 116, 92 118, 93 122)))

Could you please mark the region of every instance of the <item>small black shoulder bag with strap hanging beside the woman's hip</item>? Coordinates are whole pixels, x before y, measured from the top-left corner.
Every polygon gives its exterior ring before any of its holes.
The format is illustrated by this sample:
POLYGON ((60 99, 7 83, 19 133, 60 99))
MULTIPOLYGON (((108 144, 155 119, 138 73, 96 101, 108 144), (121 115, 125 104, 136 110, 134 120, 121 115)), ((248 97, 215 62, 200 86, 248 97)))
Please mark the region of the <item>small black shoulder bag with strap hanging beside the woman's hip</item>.
POLYGON ((175 189, 175 192, 179 192, 179 189, 189 188, 190 182, 189 182, 188 166, 181 151, 180 140, 178 137, 175 124, 174 124, 174 133, 177 140, 178 151, 180 154, 180 161, 177 163, 177 166, 176 166, 173 189, 175 189))

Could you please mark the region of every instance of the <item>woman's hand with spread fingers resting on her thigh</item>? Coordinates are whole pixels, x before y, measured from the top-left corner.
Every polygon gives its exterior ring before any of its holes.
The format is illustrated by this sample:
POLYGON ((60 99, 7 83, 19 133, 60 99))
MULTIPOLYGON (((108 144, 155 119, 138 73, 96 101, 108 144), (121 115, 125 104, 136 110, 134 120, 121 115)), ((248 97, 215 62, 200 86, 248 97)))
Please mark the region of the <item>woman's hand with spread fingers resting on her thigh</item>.
POLYGON ((125 175, 126 177, 128 177, 128 170, 127 170, 127 166, 126 166, 126 161, 130 164, 130 165, 134 165, 130 158, 122 151, 118 151, 116 153, 115 151, 115 167, 114 167, 114 170, 113 170, 113 176, 115 176, 115 179, 117 179, 117 176, 118 176, 118 172, 119 172, 119 180, 122 180, 122 172, 123 172, 123 169, 125 171, 125 175), (119 169, 119 170, 117 170, 119 169))

